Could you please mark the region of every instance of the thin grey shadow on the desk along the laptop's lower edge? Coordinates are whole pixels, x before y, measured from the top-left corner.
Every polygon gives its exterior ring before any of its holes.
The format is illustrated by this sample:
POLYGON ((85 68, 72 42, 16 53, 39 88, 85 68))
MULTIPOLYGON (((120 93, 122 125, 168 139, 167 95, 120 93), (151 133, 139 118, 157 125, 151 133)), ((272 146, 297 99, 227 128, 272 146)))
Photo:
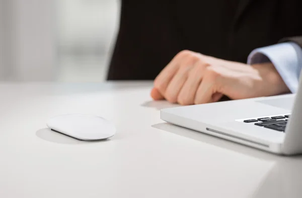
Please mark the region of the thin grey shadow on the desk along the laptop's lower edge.
POLYGON ((302 159, 302 156, 281 156, 281 155, 275 155, 269 152, 261 151, 259 149, 254 149, 239 143, 235 143, 229 140, 224 140, 218 137, 214 137, 211 135, 207 135, 204 133, 201 133, 196 130, 192 130, 189 128, 185 128, 182 126, 174 125, 168 122, 163 122, 163 123, 158 123, 152 125, 152 127, 161 129, 164 131, 167 131, 172 134, 176 134, 178 136, 182 136, 185 138, 190 138, 205 144, 210 144, 216 147, 220 147, 223 149, 231 150, 236 153, 241 153, 244 155, 249 155, 258 159, 263 159, 263 160, 269 160, 269 161, 278 161, 283 158, 300 158, 302 159))

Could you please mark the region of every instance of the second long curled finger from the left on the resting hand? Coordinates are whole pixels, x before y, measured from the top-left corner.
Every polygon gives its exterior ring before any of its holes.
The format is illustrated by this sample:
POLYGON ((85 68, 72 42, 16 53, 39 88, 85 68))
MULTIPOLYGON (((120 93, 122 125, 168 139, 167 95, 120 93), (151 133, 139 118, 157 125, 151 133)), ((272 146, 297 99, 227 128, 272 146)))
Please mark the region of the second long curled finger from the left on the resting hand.
POLYGON ((190 70, 194 67, 194 62, 196 62, 196 58, 192 57, 188 61, 182 63, 183 65, 179 69, 179 71, 176 73, 176 75, 173 77, 171 82, 169 83, 165 98, 171 103, 176 103, 178 95, 180 93, 180 90, 182 89, 183 85, 188 79, 188 75, 190 73, 190 70))

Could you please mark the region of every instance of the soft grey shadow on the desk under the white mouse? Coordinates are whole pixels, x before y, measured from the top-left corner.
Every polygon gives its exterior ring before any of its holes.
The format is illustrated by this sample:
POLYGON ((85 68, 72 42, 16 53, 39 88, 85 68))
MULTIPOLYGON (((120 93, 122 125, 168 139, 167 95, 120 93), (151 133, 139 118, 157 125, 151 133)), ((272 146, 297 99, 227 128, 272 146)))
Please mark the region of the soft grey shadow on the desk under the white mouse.
POLYGON ((93 140, 93 141, 77 140, 72 137, 57 133, 57 132, 51 130, 50 128, 42 128, 42 129, 37 130, 36 136, 47 142, 65 144, 65 145, 79 145, 79 144, 90 144, 90 143, 110 141, 110 139, 93 140))

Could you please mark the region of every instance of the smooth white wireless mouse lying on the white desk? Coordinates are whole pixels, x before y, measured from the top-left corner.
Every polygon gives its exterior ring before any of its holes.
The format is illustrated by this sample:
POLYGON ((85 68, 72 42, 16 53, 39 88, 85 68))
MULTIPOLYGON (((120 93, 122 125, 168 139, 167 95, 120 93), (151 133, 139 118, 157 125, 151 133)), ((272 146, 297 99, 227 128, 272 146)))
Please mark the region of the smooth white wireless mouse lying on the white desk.
POLYGON ((116 133, 113 123, 97 115, 58 115, 50 118, 47 126, 57 133, 86 141, 107 139, 116 133))

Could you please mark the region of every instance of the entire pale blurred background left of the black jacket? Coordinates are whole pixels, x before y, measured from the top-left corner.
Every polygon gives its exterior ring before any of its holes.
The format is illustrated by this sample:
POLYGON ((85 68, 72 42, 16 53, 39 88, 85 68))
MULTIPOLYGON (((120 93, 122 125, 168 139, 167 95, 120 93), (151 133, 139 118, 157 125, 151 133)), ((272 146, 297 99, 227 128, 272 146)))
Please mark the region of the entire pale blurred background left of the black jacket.
POLYGON ((104 81, 119 13, 119 0, 0 0, 0 81, 104 81))

